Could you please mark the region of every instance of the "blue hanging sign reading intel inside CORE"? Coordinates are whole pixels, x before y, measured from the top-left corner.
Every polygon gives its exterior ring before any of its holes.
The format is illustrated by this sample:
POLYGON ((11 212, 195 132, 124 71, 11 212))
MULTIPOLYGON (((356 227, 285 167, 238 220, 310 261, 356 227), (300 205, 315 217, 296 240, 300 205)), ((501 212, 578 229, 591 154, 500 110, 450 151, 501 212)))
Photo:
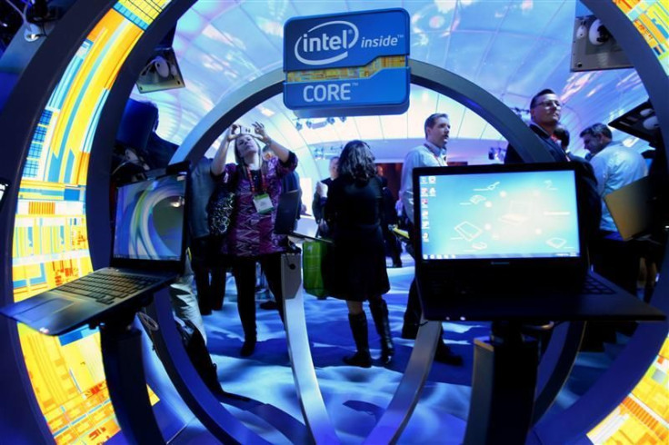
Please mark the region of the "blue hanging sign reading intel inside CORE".
POLYGON ((404 9, 290 19, 284 103, 305 117, 404 113, 408 55, 404 9))

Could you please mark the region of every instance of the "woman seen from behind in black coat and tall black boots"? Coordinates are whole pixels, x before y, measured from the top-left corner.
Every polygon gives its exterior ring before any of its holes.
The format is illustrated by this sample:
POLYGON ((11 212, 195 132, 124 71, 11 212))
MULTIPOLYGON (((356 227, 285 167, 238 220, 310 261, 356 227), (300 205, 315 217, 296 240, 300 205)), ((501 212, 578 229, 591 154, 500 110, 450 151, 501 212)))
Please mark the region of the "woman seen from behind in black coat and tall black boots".
POLYGON ((388 364, 394 354, 388 306, 382 297, 390 290, 381 229, 383 187, 376 176, 374 154, 363 141, 346 143, 338 170, 325 204, 325 221, 335 242, 328 289, 348 306, 357 351, 345 357, 344 362, 369 368, 372 357, 364 301, 369 301, 376 331, 381 336, 381 361, 388 364))

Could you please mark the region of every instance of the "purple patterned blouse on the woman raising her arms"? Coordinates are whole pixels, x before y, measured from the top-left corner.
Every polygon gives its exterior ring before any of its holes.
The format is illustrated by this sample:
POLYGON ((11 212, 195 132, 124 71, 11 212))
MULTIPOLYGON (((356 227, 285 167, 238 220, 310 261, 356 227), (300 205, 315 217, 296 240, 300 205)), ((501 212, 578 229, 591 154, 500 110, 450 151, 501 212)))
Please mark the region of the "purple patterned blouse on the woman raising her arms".
POLYGON ((248 171, 244 167, 239 167, 236 163, 225 164, 224 173, 219 177, 219 181, 223 181, 226 174, 238 173, 238 176, 235 214, 225 235, 222 253, 255 257, 287 250, 286 236, 275 235, 274 233, 276 206, 279 203, 279 195, 282 193, 281 178, 285 174, 293 172, 296 166, 297 157, 292 152, 286 163, 281 163, 278 158, 273 157, 263 164, 261 169, 263 180, 255 182, 255 190, 258 192, 258 185, 264 183, 265 190, 263 192, 269 194, 275 210, 271 213, 260 214, 255 211, 248 171))

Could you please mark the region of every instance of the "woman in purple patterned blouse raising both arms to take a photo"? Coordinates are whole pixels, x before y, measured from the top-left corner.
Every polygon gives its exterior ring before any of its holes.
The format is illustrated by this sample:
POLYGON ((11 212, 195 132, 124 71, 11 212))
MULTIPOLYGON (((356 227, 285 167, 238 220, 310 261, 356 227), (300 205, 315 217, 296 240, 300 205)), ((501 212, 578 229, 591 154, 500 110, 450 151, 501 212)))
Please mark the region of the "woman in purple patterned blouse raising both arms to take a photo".
POLYGON ((265 272, 270 291, 275 295, 279 314, 284 319, 281 293, 281 254, 288 250, 285 235, 275 235, 276 207, 281 194, 281 179, 295 171, 297 158, 265 132, 263 124, 251 130, 233 124, 225 131, 223 143, 216 152, 211 172, 217 181, 235 187, 235 210, 225 233, 221 253, 231 258, 237 285, 237 311, 244 329, 241 355, 255 351, 255 264, 265 272), (225 163, 228 146, 235 143, 235 163, 225 163), (275 153, 264 161, 258 142, 275 153))

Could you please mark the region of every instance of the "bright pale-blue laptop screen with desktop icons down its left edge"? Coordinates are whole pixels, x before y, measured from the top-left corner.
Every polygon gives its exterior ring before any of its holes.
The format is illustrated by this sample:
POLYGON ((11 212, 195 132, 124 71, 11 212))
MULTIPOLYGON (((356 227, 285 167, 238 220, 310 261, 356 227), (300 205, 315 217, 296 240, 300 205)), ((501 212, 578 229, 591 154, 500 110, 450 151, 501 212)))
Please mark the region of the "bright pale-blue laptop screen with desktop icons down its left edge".
POLYGON ((580 254, 574 172, 425 175, 419 184, 424 260, 580 254))

